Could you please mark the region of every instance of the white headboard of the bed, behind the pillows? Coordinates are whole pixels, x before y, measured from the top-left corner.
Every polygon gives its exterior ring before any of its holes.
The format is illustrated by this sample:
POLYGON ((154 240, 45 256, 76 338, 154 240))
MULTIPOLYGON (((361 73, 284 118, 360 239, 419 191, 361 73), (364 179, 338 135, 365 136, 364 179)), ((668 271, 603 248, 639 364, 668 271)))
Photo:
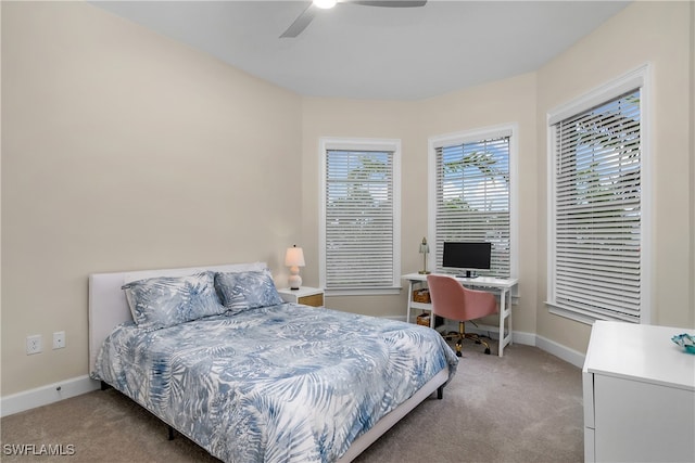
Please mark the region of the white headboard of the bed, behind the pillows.
POLYGON ((185 276, 205 270, 218 272, 258 271, 265 262, 228 263, 181 269, 141 270, 136 272, 92 273, 89 275, 89 372, 94 370, 101 344, 119 323, 132 320, 124 283, 154 276, 185 276))

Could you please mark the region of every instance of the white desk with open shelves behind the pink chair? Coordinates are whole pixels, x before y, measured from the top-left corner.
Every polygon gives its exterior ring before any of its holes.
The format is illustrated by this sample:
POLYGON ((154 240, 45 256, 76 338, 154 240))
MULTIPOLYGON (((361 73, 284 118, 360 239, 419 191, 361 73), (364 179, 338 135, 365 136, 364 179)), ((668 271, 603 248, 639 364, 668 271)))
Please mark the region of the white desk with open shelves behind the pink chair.
MULTIPOLYGON (((416 303, 413 300, 413 291, 427 286, 427 275, 422 273, 408 273, 401 276, 408 281, 408 311, 407 321, 410 321, 410 309, 432 310, 431 304, 416 303)), ((500 294, 500 348, 502 357, 504 347, 511 344, 511 288, 519 282, 518 279, 498 279, 492 276, 456 278, 460 284, 467 287, 486 290, 500 294), (505 334, 505 320, 507 320, 507 333, 505 334)), ((430 318, 434 323, 434 317, 430 318)))

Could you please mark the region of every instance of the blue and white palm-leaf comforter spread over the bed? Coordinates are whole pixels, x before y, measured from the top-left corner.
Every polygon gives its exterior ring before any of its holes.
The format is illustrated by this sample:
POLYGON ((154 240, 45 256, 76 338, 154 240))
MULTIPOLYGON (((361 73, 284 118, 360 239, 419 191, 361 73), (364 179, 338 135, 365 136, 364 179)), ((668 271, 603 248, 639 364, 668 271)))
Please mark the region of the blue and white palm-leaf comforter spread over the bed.
POLYGON ((226 462, 330 462, 458 359, 433 330, 282 304, 106 338, 92 377, 226 462))

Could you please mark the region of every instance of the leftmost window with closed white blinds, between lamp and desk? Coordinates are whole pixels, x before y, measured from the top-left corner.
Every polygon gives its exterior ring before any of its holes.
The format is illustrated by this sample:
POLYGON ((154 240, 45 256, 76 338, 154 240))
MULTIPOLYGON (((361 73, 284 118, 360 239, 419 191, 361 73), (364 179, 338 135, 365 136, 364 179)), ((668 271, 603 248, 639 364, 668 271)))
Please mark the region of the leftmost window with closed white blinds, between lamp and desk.
POLYGON ((394 294, 401 278, 397 140, 321 139, 320 280, 327 294, 394 294))

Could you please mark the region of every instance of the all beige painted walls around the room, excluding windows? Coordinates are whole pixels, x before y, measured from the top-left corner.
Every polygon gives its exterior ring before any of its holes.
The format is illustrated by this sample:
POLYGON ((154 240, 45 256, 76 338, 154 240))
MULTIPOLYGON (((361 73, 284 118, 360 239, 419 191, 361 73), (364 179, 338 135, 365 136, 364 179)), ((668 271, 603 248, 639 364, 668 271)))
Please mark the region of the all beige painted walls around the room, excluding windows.
MULTIPOLYGON (((694 326, 693 8, 635 2, 538 73, 383 102, 300 98, 88 4, 3 2, 2 396, 87 373, 91 272, 262 259, 281 280, 298 243, 304 283, 318 284, 319 137, 402 140, 410 272, 427 234, 428 138, 518 124, 515 329, 584 351, 589 326, 544 305, 545 114, 645 62, 654 322, 694 326), (68 347, 53 351, 60 330, 68 347), (45 350, 26 356, 36 333, 45 350)), ((399 317, 405 297, 327 301, 399 317)))

